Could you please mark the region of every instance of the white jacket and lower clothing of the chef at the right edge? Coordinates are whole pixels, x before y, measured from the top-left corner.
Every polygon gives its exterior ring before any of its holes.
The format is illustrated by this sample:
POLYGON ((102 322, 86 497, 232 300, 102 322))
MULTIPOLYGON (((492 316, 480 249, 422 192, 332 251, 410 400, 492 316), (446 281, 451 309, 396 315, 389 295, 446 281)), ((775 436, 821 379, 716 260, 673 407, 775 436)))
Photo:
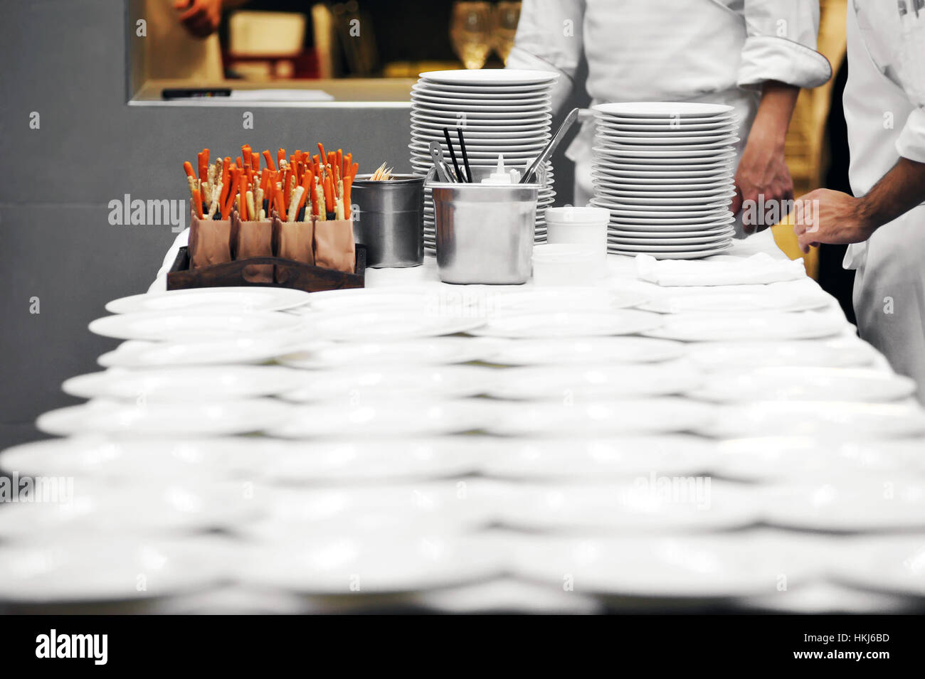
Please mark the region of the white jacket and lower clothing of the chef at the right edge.
MULTIPOLYGON (((925 7, 916 16, 914 0, 850 0, 847 39, 848 176, 863 196, 900 156, 925 163, 925 7)), ((861 336, 925 402, 925 204, 849 246, 845 268, 857 269, 861 336)))

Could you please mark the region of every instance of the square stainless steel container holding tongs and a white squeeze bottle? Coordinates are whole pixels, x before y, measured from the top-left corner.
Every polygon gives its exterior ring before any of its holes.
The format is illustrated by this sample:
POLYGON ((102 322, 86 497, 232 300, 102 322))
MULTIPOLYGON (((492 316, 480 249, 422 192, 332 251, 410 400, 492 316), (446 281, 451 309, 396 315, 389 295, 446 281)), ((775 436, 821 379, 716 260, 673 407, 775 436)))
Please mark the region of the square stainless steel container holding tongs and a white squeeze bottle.
POLYGON ((441 281, 519 285, 529 280, 539 185, 428 186, 441 281))

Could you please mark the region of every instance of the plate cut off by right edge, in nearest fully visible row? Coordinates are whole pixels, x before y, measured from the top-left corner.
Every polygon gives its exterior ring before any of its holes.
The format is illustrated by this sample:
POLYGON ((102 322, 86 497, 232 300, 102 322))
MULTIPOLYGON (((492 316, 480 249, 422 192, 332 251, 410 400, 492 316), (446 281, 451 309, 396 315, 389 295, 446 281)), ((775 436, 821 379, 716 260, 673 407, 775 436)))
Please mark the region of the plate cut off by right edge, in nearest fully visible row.
POLYGON ((852 587, 925 597, 925 544, 921 535, 883 535, 845 540, 849 558, 833 577, 852 587))

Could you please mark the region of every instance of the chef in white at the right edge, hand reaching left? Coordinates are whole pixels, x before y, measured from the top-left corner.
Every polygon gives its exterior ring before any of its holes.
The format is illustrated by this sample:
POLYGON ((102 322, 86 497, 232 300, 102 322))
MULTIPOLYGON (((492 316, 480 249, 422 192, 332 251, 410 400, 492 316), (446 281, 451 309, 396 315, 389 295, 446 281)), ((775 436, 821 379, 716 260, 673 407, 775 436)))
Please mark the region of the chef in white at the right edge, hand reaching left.
POLYGON ((797 203, 804 251, 853 243, 861 336, 919 383, 925 403, 925 2, 848 0, 845 119, 851 190, 797 203), (810 202, 805 202, 810 201, 810 202))

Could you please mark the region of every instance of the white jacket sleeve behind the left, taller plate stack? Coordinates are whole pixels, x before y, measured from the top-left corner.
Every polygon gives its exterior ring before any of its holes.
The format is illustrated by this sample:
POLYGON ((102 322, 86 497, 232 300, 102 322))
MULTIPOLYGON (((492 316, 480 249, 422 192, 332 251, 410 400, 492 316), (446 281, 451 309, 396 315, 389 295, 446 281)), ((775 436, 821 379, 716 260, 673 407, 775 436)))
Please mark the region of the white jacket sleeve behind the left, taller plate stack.
POLYGON ((524 0, 508 68, 560 74, 552 90, 552 107, 568 99, 584 53, 582 24, 585 0, 524 0))

